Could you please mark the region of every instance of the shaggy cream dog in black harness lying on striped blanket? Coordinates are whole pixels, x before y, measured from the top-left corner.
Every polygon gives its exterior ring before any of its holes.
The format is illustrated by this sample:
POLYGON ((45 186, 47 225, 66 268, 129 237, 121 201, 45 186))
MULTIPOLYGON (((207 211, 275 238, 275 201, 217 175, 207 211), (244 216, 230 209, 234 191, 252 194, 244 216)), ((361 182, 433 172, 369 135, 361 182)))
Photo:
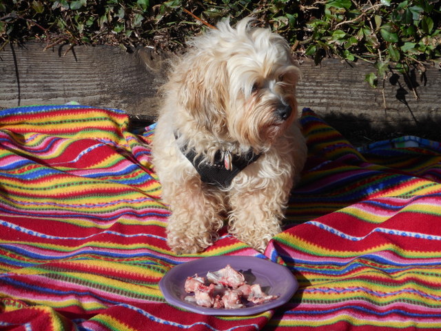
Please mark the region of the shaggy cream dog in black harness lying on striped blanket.
POLYGON ((269 28, 220 21, 190 41, 161 89, 152 143, 167 244, 201 252, 227 220, 234 237, 264 252, 281 231, 307 157, 289 45, 269 28))

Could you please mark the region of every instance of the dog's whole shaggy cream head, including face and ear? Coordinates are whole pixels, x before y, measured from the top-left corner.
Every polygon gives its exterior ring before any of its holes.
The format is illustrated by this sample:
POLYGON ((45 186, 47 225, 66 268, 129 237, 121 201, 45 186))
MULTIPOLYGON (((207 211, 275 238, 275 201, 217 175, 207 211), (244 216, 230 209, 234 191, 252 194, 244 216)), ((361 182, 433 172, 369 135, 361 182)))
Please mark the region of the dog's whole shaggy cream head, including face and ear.
POLYGON ((178 102, 216 139, 263 151, 297 117, 300 73, 287 41, 250 21, 222 21, 193 39, 178 68, 178 102))

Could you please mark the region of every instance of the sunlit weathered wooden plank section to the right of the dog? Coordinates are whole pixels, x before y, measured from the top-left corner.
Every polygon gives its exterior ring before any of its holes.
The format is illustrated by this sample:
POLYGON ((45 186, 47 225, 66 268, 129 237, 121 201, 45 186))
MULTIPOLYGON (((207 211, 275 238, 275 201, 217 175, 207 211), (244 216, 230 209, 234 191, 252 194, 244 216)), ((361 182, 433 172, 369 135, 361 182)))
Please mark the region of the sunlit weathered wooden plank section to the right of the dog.
POLYGON ((300 68, 303 79, 298 86, 298 101, 316 112, 353 114, 380 123, 424 121, 441 114, 441 72, 437 68, 429 68, 421 78, 412 70, 412 84, 407 83, 402 74, 389 74, 384 86, 387 108, 384 108, 382 89, 371 88, 364 81, 366 74, 375 72, 369 63, 326 59, 322 66, 305 61, 300 68))

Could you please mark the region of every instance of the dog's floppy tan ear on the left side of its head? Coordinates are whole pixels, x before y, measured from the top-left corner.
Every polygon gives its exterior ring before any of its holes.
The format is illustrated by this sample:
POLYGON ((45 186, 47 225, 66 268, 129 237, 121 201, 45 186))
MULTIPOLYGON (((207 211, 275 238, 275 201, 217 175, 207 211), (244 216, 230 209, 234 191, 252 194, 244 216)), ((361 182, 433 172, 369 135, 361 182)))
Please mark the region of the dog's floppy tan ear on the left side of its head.
POLYGON ((220 133, 225 130, 229 102, 226 62, 201 54, 189 60, 183 63, 187 72, 182 77, 179 101, 199 126, 220 133))

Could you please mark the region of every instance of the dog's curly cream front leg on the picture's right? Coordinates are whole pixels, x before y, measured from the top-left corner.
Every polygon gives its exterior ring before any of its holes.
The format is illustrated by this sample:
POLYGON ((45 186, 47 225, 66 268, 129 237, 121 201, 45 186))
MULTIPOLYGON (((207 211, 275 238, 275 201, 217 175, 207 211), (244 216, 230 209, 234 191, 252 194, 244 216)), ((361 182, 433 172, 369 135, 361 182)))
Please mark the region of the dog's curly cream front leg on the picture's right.
POLYGON ((231 192, 229 233, 255 250, 264 252, 268 241, 281 231, 287 194, 276 192, 273 189, 231 192))

